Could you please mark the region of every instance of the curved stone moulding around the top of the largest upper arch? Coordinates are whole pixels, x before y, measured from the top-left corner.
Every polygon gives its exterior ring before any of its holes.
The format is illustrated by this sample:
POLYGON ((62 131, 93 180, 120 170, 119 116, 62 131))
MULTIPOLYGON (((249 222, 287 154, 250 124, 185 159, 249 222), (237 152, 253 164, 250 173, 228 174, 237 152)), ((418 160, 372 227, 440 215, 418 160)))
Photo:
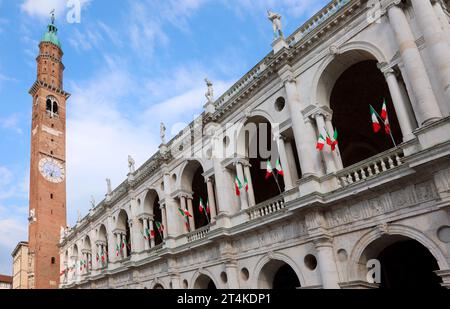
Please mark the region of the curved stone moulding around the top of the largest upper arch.
MULTIPOLYGON (((342 55, 351 51, 361 51, 361 52, 366 52, 368 54, 370 54, 375 60, 377 60, 379 63, 382 62, 389 62, 388 61, 388 57, 386 56, 386 53, 384 53, 378 46, 370 43, 370 42, 366 42, 366 41, 354 41, 354 42, 348 42, 345 43, 341 46, 336 46, 336 45, 332 45, 330 47, 330 49, 332 47, 334 48, 334 51, 337 52, 337 55, 342 55)), ((323 74, 325 73, 326 69, 328 68, 328 66, 333 63, 333 61, 336 59, 336 54, 335 53, 329 53, 327 56, 325 56, 322 61, 321 64, 319 65, 316 73, 314 74, 314 79, 312 81, 311 87, 309 87, 309 89, 312 89, 312 93, 310 96, 311 102, 310 105, 320 105, 321 103, 318 102, 318 92, 319 92, 319 85, 320 85, 320 81, 321 78, 323 76, 323 74)), ((331 87, 333 88, 333 87, 331 87)))

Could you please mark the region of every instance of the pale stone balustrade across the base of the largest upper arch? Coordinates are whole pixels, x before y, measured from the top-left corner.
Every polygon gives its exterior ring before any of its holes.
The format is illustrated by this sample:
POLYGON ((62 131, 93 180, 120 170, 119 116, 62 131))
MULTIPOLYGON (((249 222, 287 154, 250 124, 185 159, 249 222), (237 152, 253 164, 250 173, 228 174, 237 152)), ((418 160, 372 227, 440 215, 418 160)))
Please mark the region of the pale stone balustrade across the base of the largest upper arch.
POLYGON ((394 148, 343 169, 336 176, 342 187, 365 181, 403 164, 403 149, 394 148))

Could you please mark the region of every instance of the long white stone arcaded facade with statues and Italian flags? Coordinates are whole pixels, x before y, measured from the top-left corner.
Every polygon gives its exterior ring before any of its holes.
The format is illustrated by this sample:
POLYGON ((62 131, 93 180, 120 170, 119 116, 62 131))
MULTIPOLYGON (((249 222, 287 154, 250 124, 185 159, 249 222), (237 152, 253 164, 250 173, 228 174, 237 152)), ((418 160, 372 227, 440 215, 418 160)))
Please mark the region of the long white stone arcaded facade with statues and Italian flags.
MULTIPOLYGON (((392 248, 409 241, 430 254, 431 271, 450 287, 447 3, 367 4, 334 0, 277 38, 273 52, 66 231, 60 286, 273 288, 298 280, 298 288, 372 288, 367 261, 384 267, 395 259, 387 257, 392 248), (351 89, 352 72, 359 85, 361 63, 383 77, 397 147, 382 144, 391 142, 383 132, 373 145, 358 135, 366 130, 359 119, 370 127, 369 104, 382 99, 375 85, 373 101, 361 103, 367 113, 345 106, 352 93, 336 89, 351 89), (251 162, 262 160, 249 158, 249 123, 272 128, 282 194, 255 177, 262 165, 251 162), (318 151, 322 129, 334 127, 344 133, 338 149, 318 151), (248 181, 240 196, 236 176, 248 181), (211 222, 196 210, 199 196, 209 201, 211 222), (194 215, 192 232, 180 207, 194 215), (145 239, 146 229, 155 236, 145 239)), ((356 88, 355 96, 372 91, 356 88)))

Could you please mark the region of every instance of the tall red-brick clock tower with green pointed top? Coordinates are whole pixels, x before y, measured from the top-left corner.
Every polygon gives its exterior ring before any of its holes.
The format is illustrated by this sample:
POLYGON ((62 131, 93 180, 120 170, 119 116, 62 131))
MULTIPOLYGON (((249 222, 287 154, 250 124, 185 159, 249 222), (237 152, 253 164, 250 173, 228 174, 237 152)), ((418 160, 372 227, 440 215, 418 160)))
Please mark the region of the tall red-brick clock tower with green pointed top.
POLYGON ((52 14, 39 44, 32 96, 29 288, 59 285, 59 240, 66 227, 66 100, 63 52, 52 14))

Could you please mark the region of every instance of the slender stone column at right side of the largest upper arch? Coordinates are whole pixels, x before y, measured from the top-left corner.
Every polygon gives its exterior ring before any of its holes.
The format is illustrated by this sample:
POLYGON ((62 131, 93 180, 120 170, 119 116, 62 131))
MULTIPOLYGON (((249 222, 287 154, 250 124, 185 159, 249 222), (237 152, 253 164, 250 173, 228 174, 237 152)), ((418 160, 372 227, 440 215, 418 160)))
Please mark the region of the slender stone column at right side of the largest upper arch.
POLYGON ((414 130, 414 125, 412 119, 409 116, 408 102, 406 102, 403 98, 399 82, 394 74, 394 70, 392 68, 387 68, 382 69, 382 72, 384 73, 386 82, 389 87, 389 92, 391 93, 395 113, 397 115, 400 129, 402 130, 403 141, 409 141, 414 138, 414 135, 412 133, 414 130))

